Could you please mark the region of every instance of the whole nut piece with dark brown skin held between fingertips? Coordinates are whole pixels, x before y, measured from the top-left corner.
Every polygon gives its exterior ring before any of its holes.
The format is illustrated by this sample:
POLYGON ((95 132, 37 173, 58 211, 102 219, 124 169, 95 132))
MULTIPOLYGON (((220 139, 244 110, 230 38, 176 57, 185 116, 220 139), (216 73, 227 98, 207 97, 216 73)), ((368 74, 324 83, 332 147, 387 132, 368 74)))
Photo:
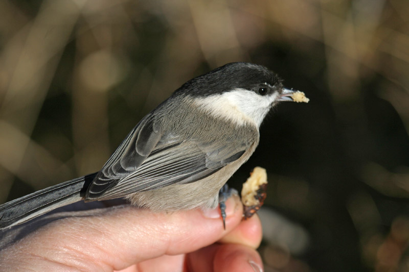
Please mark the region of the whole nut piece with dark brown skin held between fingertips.
POLYGON ((267 172, 255 167, 241 189, 241 202, 244 205, 243 219, 253 216, 263 205, 267 196, 267 172))

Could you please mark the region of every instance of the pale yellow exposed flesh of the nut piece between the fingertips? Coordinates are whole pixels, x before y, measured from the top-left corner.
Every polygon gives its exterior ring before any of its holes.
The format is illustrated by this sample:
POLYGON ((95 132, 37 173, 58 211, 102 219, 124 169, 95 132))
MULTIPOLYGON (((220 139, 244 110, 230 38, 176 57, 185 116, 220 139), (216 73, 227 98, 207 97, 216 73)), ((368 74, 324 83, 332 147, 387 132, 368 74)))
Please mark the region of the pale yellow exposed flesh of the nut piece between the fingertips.
POLYGON ((260 186, 265 183, 267 183, 266 170, 261 167, 255 167, 241 189, 241 202, 244 206, 256 206, 260 204, 255 196, 260 186))

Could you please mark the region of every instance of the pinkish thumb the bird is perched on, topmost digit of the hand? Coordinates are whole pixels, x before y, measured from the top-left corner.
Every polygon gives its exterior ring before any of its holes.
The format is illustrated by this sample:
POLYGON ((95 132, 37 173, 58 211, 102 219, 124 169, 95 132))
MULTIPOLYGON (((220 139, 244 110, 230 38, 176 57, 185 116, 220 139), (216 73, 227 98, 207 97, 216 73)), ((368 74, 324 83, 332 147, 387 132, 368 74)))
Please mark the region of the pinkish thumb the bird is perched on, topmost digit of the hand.
MULTIPOLYGON (((123 269, 162 255, 195 251, 219 240, 241 220, 238 196, 226 202, 226 230, 219 209, 153 213, 129 205, 58 214, 55 220, 0 253, 0 264, 33 269, 33 256, 84 270, 123 269), (67 217, 69 216, 69 217, 67 217)), ((56 216, 54 214, 53 216, 56 216)))

